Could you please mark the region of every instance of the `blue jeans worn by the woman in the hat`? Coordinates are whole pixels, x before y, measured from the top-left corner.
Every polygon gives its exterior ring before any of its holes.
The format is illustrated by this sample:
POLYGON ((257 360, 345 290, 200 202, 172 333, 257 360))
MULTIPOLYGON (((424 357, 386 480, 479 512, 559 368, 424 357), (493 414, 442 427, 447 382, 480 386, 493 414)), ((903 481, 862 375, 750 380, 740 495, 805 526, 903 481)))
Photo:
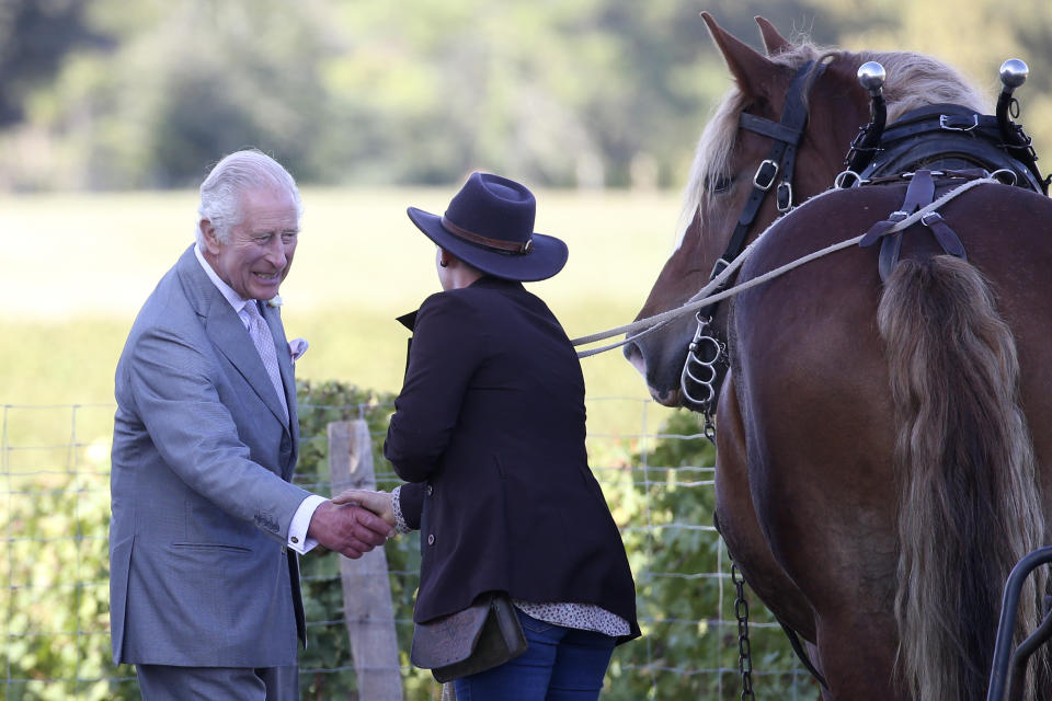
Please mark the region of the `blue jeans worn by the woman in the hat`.
POLYGON ((500 667, 457 679, 457 701, 595 701, 615 639, 546 623, 515 609, 529 646, 500 667))

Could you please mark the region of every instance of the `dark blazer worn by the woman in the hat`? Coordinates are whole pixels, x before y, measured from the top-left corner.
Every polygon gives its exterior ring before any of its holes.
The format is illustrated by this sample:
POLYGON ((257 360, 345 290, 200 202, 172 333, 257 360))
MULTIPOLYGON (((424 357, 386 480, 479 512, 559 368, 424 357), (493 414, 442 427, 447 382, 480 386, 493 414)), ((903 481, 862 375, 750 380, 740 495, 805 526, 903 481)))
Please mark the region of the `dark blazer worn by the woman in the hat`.
POLYGON ((595 604, 639 635, 625 547, 585 451, 584 378, 548 307, 483 277, 427 298, 384 455, 421 528, 414 619, 483 591, 595 604))

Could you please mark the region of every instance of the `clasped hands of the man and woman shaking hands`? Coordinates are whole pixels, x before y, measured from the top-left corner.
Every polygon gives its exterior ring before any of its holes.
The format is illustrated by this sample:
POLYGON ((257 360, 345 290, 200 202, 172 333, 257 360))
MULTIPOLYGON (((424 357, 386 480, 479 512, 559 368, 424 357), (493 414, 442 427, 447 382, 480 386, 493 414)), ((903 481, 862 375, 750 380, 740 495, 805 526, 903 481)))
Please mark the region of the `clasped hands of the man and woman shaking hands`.
POLYGON ((315 509, 307 535, 355 560, 395 536, 395 506, 387 492, 347 490, 315 509))

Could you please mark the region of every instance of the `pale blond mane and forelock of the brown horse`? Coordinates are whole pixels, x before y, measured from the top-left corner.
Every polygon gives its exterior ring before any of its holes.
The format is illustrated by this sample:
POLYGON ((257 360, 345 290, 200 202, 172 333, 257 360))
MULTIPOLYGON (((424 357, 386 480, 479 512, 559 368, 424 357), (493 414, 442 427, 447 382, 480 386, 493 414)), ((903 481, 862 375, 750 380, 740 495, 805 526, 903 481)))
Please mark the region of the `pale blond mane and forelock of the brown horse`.
MULTIPOLYGON (((809 89, 810 81, 817 77, 817 67, 821 64, 843 62, 853 67, 854 72, 866 61, 878 61, 888 74, 883 94, 888 105, 889 124, 912 110, 933 104, 962 105, 981 114, 990 114, 992 111, 990 100, 983 96, 979 89, 957 69, 924 54, 823 49, 804 39, 767 58, 773 64, 793 70, 813 60, 815 68, 809 79, 809 89)), ((681 239, 677 241, 677 246, 682 243, 687 225, 698 212, 698 207, 705 204, 708 196, 706 183, 729 172, 728 164, 737 140, 739 115, 748 106, 748 97, 736 85, 732 87, 716 105, 712 117, 701 133, 687 180, 678 227, 681 239)), ((847 145, 844 152, 847 153, 847 145)), ((704 217, 704 214, 701 216, 704 217)))

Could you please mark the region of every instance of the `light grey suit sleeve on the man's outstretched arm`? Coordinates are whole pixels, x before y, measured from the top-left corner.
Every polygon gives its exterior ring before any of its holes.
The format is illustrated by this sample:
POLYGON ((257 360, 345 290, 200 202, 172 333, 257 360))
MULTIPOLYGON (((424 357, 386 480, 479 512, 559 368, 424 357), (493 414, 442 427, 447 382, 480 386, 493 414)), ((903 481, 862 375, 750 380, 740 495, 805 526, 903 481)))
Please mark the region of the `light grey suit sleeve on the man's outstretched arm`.
POLYGON ((198 494, 284 541, 310 493, 250 459, 206 355, 174 331, 153 327, 138 337, 130 360, 128 394, 164 462, 198 494))

